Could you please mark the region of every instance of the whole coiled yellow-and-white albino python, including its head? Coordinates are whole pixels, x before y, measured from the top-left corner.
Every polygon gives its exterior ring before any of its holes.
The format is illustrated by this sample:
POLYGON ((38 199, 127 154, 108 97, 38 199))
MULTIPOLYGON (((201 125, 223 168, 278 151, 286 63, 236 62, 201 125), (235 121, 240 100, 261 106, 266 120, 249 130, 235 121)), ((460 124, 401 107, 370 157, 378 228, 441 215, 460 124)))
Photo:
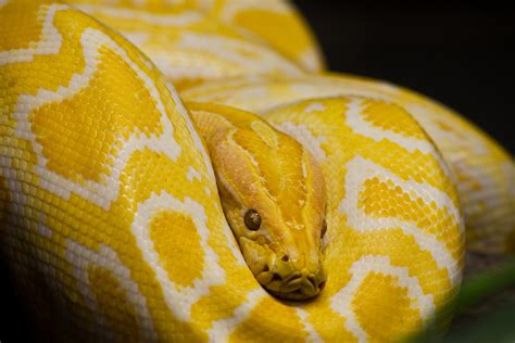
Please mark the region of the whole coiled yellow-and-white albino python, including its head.
POLYGON ((449 322, 465 226, 515 250, 512 157, 324 74, 287 3, 74 5, 0 0, 1 256, 50 336, 394 340, 449 322))

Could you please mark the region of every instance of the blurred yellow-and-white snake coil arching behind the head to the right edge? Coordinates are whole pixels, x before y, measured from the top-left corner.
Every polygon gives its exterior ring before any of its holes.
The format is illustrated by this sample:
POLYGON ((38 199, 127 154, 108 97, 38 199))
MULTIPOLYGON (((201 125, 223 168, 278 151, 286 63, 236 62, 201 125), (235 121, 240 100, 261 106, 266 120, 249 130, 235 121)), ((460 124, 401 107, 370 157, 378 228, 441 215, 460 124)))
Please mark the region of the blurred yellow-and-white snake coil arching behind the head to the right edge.
MULTIPOLYGON (((181 92, 188 101, 215 102, 261 114, 303 99, 346 94, 385 100, 407 111, 452 172, 466 219, 467 247, 481 253, 515 252, 513 156, 457 113, 424 96, 384 81, 339 74, 247 77, 206 82, 181 92)), ((392 124, 385 122, 390 118, 385 114, 370 116, 379 127, 376 134, 391 137, 387 129, 392 124)), ((403 127, 400 123, 398 126, 403 127)))

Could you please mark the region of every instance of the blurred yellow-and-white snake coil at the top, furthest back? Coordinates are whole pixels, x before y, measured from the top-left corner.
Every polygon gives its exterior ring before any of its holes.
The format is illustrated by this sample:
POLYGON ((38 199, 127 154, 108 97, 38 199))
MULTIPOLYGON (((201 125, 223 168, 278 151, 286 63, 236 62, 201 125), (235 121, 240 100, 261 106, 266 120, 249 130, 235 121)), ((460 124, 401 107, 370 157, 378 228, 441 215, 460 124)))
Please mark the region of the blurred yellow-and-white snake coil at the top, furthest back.
POLYGON ((284 1, 74 1, 140 48, 178 89, 243 75, 322 69, 302 18, 284 1))

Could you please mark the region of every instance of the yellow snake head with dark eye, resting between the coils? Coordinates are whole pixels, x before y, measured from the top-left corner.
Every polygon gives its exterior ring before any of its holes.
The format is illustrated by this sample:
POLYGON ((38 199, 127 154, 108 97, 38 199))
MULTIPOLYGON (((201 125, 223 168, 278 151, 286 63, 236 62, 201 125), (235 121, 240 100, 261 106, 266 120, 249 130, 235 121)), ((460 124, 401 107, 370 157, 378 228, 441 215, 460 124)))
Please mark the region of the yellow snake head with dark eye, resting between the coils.
POLYGON ((224 116, 230 125, 215 125, 206 139, 227 221, 266 290, 286 300, 313 297, 327 278, 322 168, 293 138, 234 112, 224 116))

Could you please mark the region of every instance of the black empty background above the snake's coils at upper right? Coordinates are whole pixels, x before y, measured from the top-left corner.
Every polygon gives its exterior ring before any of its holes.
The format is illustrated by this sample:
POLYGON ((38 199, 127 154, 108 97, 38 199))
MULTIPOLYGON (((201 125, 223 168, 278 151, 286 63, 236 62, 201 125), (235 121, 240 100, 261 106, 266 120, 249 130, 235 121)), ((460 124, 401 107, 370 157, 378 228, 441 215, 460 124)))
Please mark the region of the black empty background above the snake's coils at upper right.
POLYGON ((513 2, 293 3, 315 31, 330 69, 429 96, 515 153, 513 2))

